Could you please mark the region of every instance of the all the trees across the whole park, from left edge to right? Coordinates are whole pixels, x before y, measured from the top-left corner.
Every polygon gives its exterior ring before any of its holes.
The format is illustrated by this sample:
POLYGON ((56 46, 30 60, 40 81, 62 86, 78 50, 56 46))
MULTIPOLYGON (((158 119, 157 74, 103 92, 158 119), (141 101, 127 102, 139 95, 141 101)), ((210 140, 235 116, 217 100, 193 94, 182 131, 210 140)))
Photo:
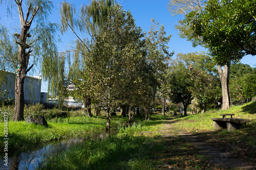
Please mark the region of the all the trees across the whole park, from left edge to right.
POLYGON ((152 19, 150 31, 142 32, 131 12, 113 0, 93 0, 79 12, 73 4, 60 3, 60 27, 47 21, 52 2, 26 1, 26 15, 23 3, 7 2, 8 9, 17 7, 20 28, 16 33, 4 26, 0 29, 0 66, 17 70, 13 120, 24 119, 23 84, 34 64, 40 66, 44 80, 49 81, 49 92, 58 96, 60 103, 68 95, 66 86, 74 84, 76 89, 70 95, 84 102, 88 116, 92 116, 92 105, 106 107, 106 129, 118 106, 128 110, 129 120, 133 117, 131 106, 142 107, 147 120, 157 98, 163 105, 166 99, 182 102, 186 114, 191 103, 202 112, 210 108, 221 95, 221 87, 223 109, 230 106, 230 90, 236 100, 255 93, 255 85, 249 83, 255 81, 255 70, 248 67, 250 72, 243 76, 231 74, 236 79, 231 77, 229 88, 230 65, 244 55, 256 54, 253 1, 170 0, 169 11, 185 15, 176 26, 180 36, 209 50, 208 54, 178 54, 176 60, 170 60, 174 53, 168 52, 166 44, 171 36, 166 36, 163 26, 152 19), (58 29, 62 34, 71 30, 77 37, 60 54, 58 29))

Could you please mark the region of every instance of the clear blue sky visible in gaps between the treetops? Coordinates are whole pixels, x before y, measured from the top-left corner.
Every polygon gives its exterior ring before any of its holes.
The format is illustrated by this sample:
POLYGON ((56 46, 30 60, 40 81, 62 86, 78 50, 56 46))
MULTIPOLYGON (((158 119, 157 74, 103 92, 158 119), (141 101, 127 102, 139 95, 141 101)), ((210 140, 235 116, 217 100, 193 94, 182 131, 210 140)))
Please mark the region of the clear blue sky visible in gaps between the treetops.
MULTIPOLYGON (((4 1, 3 1, 4 2, 4 1)), ((49 20, 52 22, 60 22, 58 3, 62 1, 53 0, 55 9, 52 12, 52 15, 49 17, 49 20)), ((76 8, 79 8, 81 4, 88 5, 89 0, 67 0, 68 3, 75 4, 76 8)), ((167 10, 168 0, 117 0, 117 3, 123 6, 123 9, 126 11, 130 10, 134 19, 136 20, 136 25, 141 27, 143 31, 148 31, 151 25, 151 19, 155 18, 160 25, 163 25, 167 35, 173 35, 168 43, 169 51, 174 51, 175 54, 173 58, 176 58, 176 55, 179 53, 192 53, 199 51, 207 51, 201 46, 193 47, 191 42, 186 41, 179 37, 179 32, 175 30, 175 24, 182 19, 183 16, 178 15, 176 17, 171 16, 167 10)), ((15 8, 16 10, 16 8, 15 8)), ((27 11, 24 9, 24 13, 27 11)), ((6 6, 0 6, 0 16, 1 24, 5 25, 8 28, 12 28, 15 25, 19 24, 19 19, 17 14, 13 14, 13 19, 6 17, 6 6)), ((62 42, 58 44, 59 51, 62 52, 65 50, 65 46, 72 40, 76 39, 72 32, 66 33, 63 36, 60 34, 62 42)), ((256 67, 256 57, 245 56, 241 60, 244 64, 249 64, 251 67, 256 67)), ((42 87, 44 88, 44 87, 42 87)))

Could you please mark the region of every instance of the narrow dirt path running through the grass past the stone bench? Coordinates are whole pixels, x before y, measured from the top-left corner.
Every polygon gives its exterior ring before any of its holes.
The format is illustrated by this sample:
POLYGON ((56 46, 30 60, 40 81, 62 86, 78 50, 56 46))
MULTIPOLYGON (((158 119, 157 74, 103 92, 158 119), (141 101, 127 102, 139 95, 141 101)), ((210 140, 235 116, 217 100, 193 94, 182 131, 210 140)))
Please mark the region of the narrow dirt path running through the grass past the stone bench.
MULTIPOLYGON (((161 133, 161 136, 172 137, 175 135, 172 125, 173 123, 173 120, 165 121, 164 127, 158 131, 161 133)), ((210 145, 209 143, 200 141, 199 138, 195 135, 180 131, 176 133, 183 137, 186 140, 186 142, 193 144, 194 147, 198 149, 202 155, 209 157, 210 161, 214 163, 216 166, 220 166, 223 168, 256 169, 256 167, 253 167, 245 163, 244 161, 238 159, 236 156, 229 155, 228 153, 226 153, 225 150, 212 147, 212 145, 210 145)))

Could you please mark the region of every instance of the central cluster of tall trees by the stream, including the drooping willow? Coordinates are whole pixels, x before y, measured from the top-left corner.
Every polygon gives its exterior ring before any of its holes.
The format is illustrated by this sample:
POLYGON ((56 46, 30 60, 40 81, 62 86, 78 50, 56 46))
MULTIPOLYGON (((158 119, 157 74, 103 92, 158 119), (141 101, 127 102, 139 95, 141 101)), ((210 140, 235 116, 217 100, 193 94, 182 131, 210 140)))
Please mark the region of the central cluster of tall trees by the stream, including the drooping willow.
POLYGON ((92 1, 75 16, 72 4, 62 3, 60 8, 62 30, 85 33, 77 36, 75 46, 66 54, 73 55, 67 77, 76 86, 73 97, 85 102, 89 116, 92 104, 106 107, 106 129, 118 106, 123 112, 128 110, 129 121, 131 106, 143 107, 145 119, 149 119, 167 61, 173 55, 166 46, 170 36, 164 27, 153 19, 148 34, 143 33, 130 11, 110 1, 92 1))

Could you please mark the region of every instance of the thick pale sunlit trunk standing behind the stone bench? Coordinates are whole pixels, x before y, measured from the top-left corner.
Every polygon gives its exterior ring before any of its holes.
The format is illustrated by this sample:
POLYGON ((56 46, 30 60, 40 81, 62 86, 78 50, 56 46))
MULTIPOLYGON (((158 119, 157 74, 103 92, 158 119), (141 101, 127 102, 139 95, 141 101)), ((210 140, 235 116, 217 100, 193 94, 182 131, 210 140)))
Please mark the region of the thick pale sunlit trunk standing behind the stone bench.
POLYGON ((229 109, 231 104, 229 91, 229 70, 230 65, 224 65, 223 69, 220 65, 218 65, 218 71, 222 88, 222 110, 229 109))

